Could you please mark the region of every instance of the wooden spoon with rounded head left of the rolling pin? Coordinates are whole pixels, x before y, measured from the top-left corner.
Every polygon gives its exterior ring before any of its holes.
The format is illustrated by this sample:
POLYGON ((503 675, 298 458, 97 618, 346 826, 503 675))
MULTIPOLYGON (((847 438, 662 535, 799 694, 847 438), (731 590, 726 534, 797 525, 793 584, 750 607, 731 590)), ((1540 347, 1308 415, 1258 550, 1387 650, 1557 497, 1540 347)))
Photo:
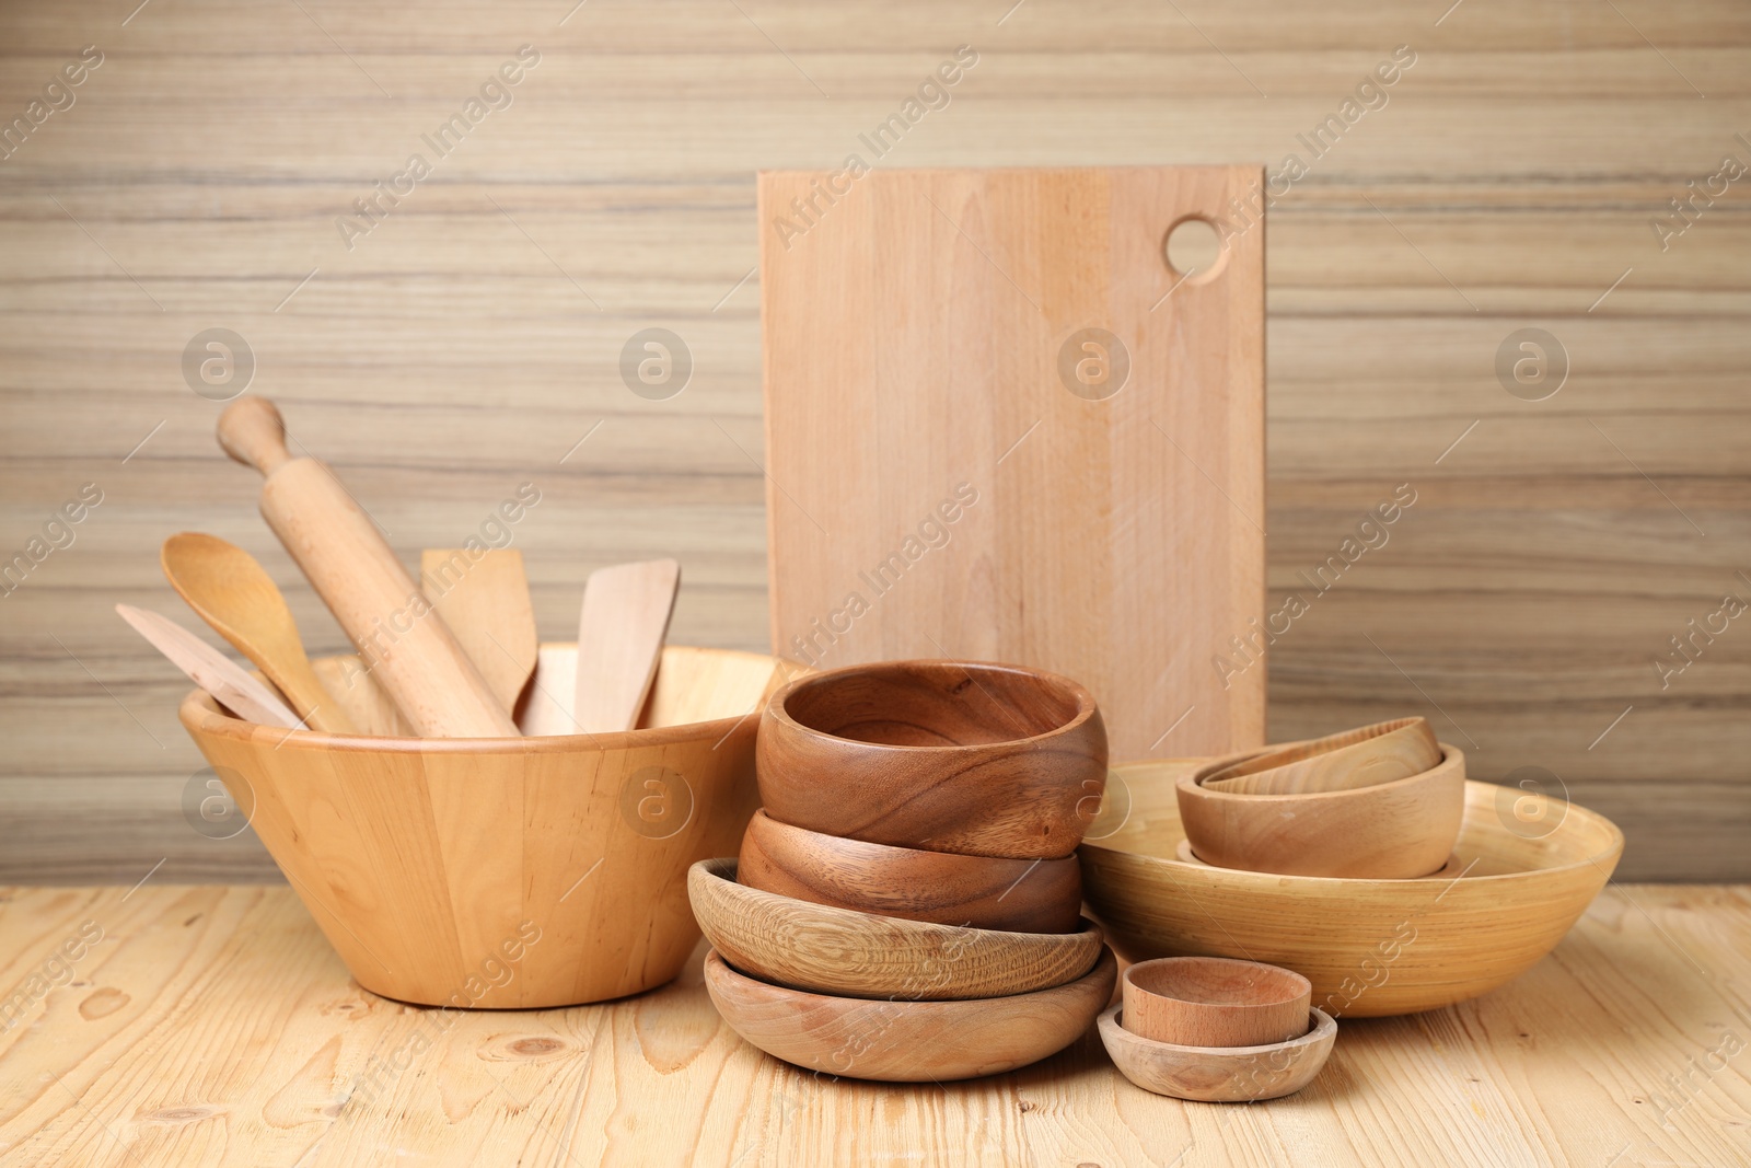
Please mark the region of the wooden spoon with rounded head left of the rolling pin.
POLYGON ((308 725, 329 734, 357 732, 310 669, 292 609, 254 555, 217 536, 186 531, 165 539, 158 559, 170 587, 254 662, 308 725))

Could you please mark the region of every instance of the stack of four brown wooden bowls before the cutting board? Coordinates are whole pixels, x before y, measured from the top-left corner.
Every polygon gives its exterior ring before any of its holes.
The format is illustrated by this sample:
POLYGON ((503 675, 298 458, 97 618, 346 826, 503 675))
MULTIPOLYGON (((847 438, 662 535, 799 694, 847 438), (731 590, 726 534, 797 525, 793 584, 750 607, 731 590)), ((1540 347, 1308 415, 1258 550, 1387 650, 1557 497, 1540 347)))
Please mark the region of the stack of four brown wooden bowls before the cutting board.
POLYGON ((1054 674, 884 662, 767 704, 763 811, 693 867, 706 988, 756 1047, 856 1079, 989 1075, 1061 1051, 1112 996, 1075 848, 1107 732, 1054 674))

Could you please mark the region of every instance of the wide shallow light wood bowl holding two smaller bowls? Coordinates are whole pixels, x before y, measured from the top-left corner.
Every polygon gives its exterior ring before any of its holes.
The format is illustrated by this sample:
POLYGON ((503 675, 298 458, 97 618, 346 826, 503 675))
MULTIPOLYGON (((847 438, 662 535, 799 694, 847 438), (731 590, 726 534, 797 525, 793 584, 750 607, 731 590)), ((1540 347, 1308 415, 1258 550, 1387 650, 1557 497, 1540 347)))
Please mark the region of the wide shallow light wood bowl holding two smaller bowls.
POLYGON ((1509 830, 1523 792, 1466 783, 1452 881, 1271 876, 1173 860, 1185 839, 1177 781, 1191 762, 1115 767, 1126 823, 1082 844, 1082 890, 1108 944, 1142 961, 1250 958, 1313 982, 1313 1005, 1343 1017, 1413 1014, 1476 998, 1557 947, 1623 855, 1604 816, 1551 802, 1546 835, 1509 830))

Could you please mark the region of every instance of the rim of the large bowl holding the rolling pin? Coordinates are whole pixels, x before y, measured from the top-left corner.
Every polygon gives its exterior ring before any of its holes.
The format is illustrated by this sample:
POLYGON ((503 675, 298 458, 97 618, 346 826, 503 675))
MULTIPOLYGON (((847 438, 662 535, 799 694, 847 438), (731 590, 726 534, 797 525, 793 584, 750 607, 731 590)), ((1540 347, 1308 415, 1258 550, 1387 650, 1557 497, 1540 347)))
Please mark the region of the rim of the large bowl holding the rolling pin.
MULTIPOLYGON (((541 643, 539 648, 567 648, 571 641, 541 643)), ((763 658, 777 665, 786 658, 776 653, 753 653, 749 650, 702 648, 709 653, 727 657, 763 658)), ((763 704, 762 704, 763 706, 763 704)), ((270 727, 247 718, 236 718, 221 709, 219 702, 207 690, 194 686, 177 706, 177 718, 182 727, 200 739, 201 735, 229 739, 233 742, 261 744, 271 741, 275 749, 303 751, 357 751, 385 755, 576 755, 580 751, 613 751, 637 746, 678 746, 723 734, 728 737, 744 721, 762 711, 755 706, 748 713, 713 718, 709 721, 683 721, 672 727, 644 727, 637 730, 608 730, 601 734, 543 734, 532 737, 401 737, 390 734, 334 734, 331 730, 270 727)))

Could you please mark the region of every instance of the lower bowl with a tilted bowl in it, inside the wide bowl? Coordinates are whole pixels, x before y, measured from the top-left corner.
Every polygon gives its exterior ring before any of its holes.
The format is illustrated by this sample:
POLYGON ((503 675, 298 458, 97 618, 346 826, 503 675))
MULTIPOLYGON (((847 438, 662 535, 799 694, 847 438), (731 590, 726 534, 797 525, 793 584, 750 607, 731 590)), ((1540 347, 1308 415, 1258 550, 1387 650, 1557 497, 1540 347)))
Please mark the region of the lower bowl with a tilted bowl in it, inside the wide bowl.
POLYGON ((1408 779, 1308 795, 1234 795, 1178 783, 1180 820, 1205 863, 1280 876, 1413 879, 1453 851, 1466 811, 1466 756, 1408 779))

